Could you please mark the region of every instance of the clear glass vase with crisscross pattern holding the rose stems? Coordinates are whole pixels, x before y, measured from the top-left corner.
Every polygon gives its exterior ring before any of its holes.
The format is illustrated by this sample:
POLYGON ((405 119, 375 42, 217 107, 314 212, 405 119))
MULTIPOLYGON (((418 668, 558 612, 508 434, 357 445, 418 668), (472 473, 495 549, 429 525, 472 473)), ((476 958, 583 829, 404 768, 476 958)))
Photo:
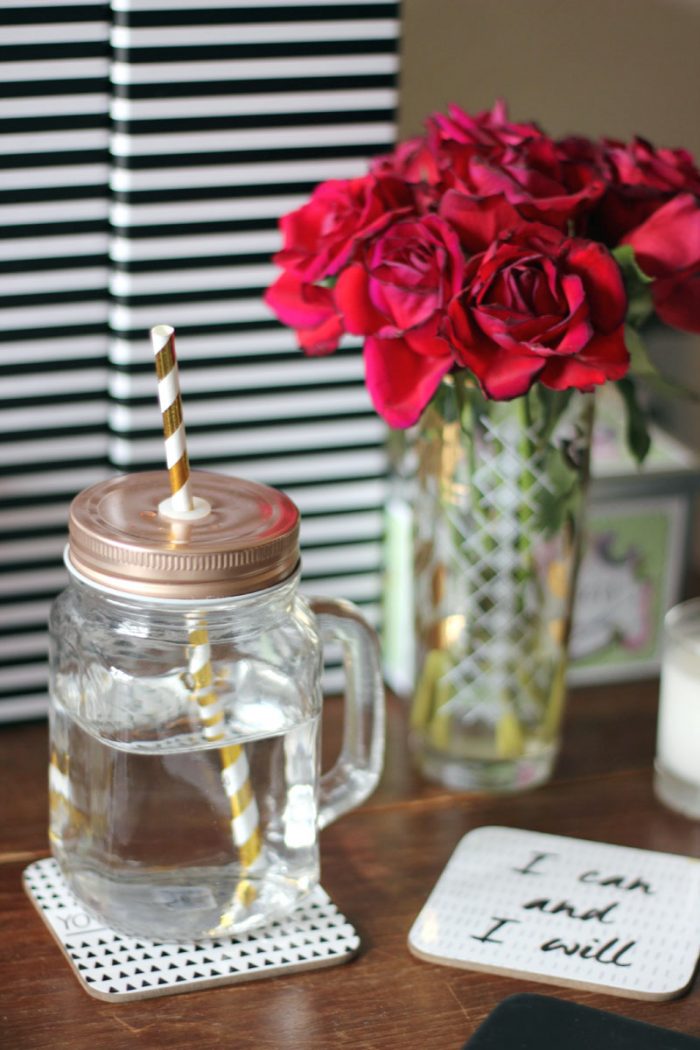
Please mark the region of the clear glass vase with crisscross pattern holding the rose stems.
POLYGON ((413 435, 417 685, 428 779, 515 791, 556 758, 593 396, 448 376, 413 435))

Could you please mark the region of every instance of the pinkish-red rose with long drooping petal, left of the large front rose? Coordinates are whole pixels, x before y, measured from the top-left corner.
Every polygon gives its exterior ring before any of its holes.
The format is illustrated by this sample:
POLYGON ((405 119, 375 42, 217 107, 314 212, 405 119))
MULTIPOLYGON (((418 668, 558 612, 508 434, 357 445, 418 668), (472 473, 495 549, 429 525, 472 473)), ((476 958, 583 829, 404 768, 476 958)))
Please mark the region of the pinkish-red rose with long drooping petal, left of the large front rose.
POLYGON ((367 387, 391 426, 415 423, 453 364, 442 324, 463 274, 457 234, 428 215, 389 227, 338 278, 336 303, 346 330, 367 336, 367 387))

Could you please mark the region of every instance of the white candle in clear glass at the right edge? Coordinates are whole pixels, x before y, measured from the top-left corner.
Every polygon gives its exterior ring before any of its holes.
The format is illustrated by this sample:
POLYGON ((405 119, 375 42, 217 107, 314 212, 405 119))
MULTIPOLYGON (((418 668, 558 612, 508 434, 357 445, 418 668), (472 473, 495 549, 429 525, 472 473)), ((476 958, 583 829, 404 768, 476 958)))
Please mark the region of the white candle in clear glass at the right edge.
POLYGON ((656 751, 662 801, 700 817, 700 600, 666 615, 656 751))

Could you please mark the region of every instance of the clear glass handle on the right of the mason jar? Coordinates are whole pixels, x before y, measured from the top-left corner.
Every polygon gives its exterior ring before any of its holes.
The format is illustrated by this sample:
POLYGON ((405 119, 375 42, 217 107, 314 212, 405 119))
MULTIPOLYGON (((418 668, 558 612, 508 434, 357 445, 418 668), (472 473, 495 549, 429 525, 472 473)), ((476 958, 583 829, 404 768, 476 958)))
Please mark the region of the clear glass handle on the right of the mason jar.
POLYGON ((352 602, 310 597, 324 643, 343 653, 343 740, 333 769, 321 776, 318 826, 325 827, 372 795, 384 761, 384 686, 377 635, 352 602))

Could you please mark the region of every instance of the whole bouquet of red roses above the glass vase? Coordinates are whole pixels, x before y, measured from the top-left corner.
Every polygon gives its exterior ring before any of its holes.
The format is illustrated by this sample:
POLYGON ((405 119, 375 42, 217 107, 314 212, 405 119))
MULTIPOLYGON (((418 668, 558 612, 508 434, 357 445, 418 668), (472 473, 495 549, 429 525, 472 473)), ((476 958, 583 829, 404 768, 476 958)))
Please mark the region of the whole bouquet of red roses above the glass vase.
POLYGON ((692 156, 553 140, 502 102, 433 114, 425 135, 323 183, 280 225, 267 302, 309 354, 364 337, 369 394, 393 426, 461 370, 491 400, 613 380, 639 424, 634 377, 652 365, 638 329, 656 313, 700 332, 692 156))

